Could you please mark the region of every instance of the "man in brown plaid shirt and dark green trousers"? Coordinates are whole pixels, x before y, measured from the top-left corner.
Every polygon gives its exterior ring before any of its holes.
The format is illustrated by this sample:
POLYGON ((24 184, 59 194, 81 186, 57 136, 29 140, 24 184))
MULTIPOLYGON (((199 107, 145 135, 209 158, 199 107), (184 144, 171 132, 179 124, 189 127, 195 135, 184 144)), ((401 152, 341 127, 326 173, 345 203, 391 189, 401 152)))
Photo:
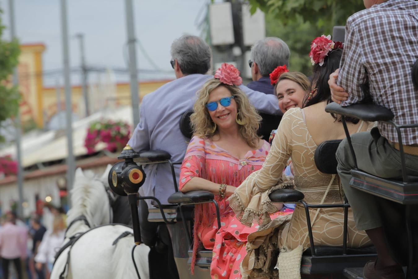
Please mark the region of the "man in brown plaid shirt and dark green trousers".
MULTIPOLYGON (((360 85, 365 84, 374 103, 392 110, 395 123, 417 123, 418 90, 411 68, 418 59, 418 2, 364 0, 364 5, 366 10, 347 20, 340 69, 329 79, 332 100, 342 106, 360 102, 364 99, 360 85)), ((379 123, 378 128, 351 138, 359 169, 378 177, 401 177, 393 126, 379 123)), ((418 129, 403 129, 402 138, 408 174, 418 176, 418 129)), ((340 144, 336 157, 357 228, 366 231, 378 254, 376 262, 364 267, 364 278, 405 278, 385 244, 375 196, 349 187, 354 162, 347 140, 340 144)))

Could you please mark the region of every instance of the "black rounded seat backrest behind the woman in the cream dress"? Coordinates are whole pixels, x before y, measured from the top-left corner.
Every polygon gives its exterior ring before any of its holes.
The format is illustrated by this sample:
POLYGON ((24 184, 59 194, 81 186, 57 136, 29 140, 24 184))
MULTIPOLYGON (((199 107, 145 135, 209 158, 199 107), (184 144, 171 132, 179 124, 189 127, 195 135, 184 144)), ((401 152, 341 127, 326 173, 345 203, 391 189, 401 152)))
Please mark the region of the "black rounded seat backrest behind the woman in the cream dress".
POLYGON ((315 165, 324 174, 337 173, 337 159, 335 153, 342 140, 324 141, 315 151, 315 165))

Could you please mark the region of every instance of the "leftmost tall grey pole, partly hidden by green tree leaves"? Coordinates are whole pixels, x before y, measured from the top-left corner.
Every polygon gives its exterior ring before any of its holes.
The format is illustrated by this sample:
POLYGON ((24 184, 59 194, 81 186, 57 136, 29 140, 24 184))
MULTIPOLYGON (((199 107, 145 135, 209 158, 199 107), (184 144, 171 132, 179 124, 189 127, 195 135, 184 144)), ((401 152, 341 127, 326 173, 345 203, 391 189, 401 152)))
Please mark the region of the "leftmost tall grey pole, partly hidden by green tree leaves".
MULTIPOLYGON (((15 8, 13 6, 13 0, 9 0, 10 10, 10 36, 13 39, 16 38, 15 30, 15 8)), ((13 69, 13 85, 18 86, 18 69, 13 69)), ((23 168, 22 168, 22 149, 21 149, 21 130, 20 130, 20 109, 18 108, 18 115, 15 119, 16 126, 16 155, 18 161, 18 191, 19 191, 19 204, 18 204, 18 216, 23 217, 23 168)))

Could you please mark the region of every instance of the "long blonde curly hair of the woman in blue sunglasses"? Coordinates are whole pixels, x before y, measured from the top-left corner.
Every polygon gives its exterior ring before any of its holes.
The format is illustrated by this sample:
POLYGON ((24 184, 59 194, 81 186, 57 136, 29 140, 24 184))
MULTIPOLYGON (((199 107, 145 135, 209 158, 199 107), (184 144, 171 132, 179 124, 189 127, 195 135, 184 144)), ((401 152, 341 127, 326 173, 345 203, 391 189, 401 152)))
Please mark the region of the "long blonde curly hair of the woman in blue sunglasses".
POLYGON ((219 86, 226 87, 237 103, 237 117, 245 121, 244 125, 239 125, 239 131, 242 138, 252 148, 257 148, 260 137, 257 136, 257 130, 260 127, 261 116, 251 105, 247 95, 240 88, 234 85, 224 84, 219 79, 210 79, 201 90, 197 92, 197 100, 193 106, 193 114, 190 116, 193 134, 201 138, 212 139, 214 122, 209 115, 206 104, 209 100, 209 94, 219 86))

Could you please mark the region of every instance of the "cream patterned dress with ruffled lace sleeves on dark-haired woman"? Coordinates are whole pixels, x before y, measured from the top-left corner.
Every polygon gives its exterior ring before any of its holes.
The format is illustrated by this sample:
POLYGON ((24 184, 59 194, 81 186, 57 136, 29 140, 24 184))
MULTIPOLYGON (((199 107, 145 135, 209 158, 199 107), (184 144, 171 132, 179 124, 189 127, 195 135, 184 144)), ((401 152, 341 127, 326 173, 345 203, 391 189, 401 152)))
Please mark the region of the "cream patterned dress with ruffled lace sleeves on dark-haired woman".
MULTIPOLYGON (((366 131, 366 126, 362 123, 359 131, 366 131)), ((293 162, 294 187, 305 195, 304 200, 307 203, 344 202, 344 192, 339 186, 338 176, 321 173, 316 168, 316 148, 316 143, 306 126, 303 111, 300 108, 288 110, 283 115, 262 169, 247 177, 229 198, 230 207, 243 224, 249 225, 253 220, 257 220, 260 226, 265 228, 248 236, 247 258, 250 257, 249 254, 255 257, 242 263, 242 268, 247 270, 248 274, 261 274, 263 270, 265 273, 271 273, 270 265, 275 265, 276 261, 271 258, 277 257, 279 250, 292 251, 300 246, 306 250, 310 247, 305 210, 301 204, 296 205, 293 216, 279 216, 271 223, 268 217, 277 210, 268 198, 270 192, 293 186, 291 181, 286 183, 282 177, 289 157, 293 162), (258 251, 254 253, 254 250, 258 251)), ((309 214, 315 245, 342 246, 342 208, 309 209, 309 214)), ((347 240, 348 247, 352 248, 371 245, 366 233, 358 231, 355 227, 351 209, 348 213, 347 240)), ((244 278, 245 274, 242 275, 244 278)))

